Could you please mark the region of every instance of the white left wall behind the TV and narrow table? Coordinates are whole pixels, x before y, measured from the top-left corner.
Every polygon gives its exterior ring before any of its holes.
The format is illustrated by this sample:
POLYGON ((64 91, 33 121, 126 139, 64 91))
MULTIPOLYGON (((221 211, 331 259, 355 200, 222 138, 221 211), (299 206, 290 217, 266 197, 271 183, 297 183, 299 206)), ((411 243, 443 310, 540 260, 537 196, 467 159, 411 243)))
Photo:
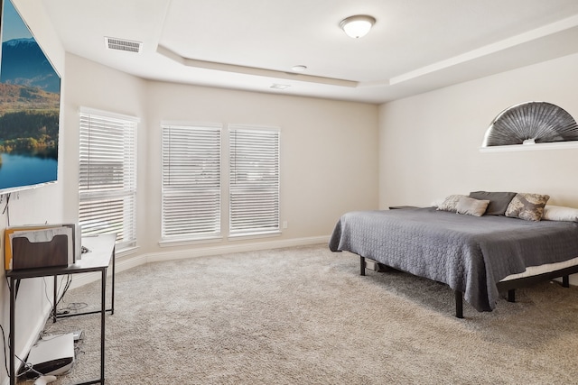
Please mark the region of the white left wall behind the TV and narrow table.
MULTIPOLYGON (((65 53, 58 40, 51 23, 42 12, 42 4, 38 2, 27 2, 23 0, 14 0, 14 6, 26 20, 26 23, 32 29, 36 41, 41 45, 42 50, 50 57, 52 65, 62 77, 62 85, 66 84, 64 76, 65 53), (39 9, 39 7, 41 9, 39 9)), ((65 96, 62 93, 62 96, 65 96)), ((62 115, 62 112, 61 112, 62 115)), ((65 133, 66 127, 61 125, 60 136, 65 133)), ((62 141, 59 142, 59 153, 62 154, 66 148, 62 141)), ((59 182, 42 188, 24 190, 19 193, 13 193, 10 198, 10 206, 6 213, 6 197, 2 197, 0 203, 0 250, 4 250, 4 229, 8 225, 24 225, 39 223, 60 223, 62 219, 63 207, 63 183, 66 179, 63 174, 63 164, 59 163, 59 182), (9 216, 8 216, 9 213, 9 216)), ((4 254, 3 254, 4 255, 4 254)), ((4 258, 2 259, 4 261, 4 258)), ((0 269, 1 279, 5 282, 5 270, 0 269)), ((30 346, 36 341, 36 333, 40 331, 46 312, 50 304, 46 301, 44 295, 45 286, 52 287, 52 280, 31 279, 23 280, 18 291, 16 302, 16 349, 15 352, 22 355, 27 352, 30 346)), ((5 346, 8 346, 9 326, 9 305, 10 297, 7 285, 0 285, 0 324, 5 330, 5 346)), ((3 354, 2 354, 3 355, 3 354)), ((9 360, 6 357, 6 360, 9 360)), ((8 361, 9 362, 9 361, 8 361)), ((0 371, 0 383, 7 382, 5 370, 0 371)))

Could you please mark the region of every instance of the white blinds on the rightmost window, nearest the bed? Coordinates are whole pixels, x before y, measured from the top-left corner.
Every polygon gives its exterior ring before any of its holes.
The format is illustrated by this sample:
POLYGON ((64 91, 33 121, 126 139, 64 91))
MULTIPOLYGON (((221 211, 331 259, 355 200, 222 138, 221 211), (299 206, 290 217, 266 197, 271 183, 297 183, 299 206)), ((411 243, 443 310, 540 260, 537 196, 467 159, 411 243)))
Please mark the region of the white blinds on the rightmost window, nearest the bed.
POLYGON ((229 235, 279 231, 279 136, 229 126, 229 235))

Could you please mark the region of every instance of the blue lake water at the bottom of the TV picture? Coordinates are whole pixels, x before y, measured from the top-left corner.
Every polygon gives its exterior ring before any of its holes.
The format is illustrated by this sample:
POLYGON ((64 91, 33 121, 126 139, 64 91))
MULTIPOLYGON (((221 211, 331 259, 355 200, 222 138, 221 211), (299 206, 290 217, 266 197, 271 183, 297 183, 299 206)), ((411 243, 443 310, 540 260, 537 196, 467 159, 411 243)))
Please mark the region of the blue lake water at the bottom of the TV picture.
POLYGON ((57 174, 55 159, 0 153, 0 189, 53 182, 57 174))

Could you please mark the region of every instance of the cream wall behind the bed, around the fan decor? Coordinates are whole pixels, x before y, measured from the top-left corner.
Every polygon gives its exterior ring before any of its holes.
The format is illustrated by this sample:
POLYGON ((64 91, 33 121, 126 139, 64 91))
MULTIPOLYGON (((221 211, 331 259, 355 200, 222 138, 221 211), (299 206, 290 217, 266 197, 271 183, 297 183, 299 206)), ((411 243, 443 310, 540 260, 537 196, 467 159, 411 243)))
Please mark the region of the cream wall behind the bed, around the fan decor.
POLYGON ((578 207, 578 149, 480 153, 510 105, 545 101, 578 119, 578 55, 397 100, 379 108, 379 206, 428 206, 470 191, 536 192, 578 207))

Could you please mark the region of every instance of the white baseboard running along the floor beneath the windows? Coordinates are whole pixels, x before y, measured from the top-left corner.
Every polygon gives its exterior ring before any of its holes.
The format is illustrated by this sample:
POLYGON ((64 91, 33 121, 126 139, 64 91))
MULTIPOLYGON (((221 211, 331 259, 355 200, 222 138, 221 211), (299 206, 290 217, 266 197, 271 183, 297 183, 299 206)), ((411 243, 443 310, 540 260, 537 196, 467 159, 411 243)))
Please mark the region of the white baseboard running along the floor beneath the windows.
MULTIPOLYGON (((149 262, 157 261, 174 261, 189 258, 206 257, 210 255, 230 254, 232 252, 254 252, 258 250, 281 249, 284 247, 307 246, 311 244, 328 243, 329 235, 309 238, 294 238, 288 240, 278 240, 259 243, 241 243, 231 245, 210 245, 207 247, 180 250, 177 252, 154 252, 142 255, 130 255, 126 257, 117 257, 115 266, 116 272, 132 269, 136 266, 144 265, 149 262)), ((112 269, 108 269, 108 276, 112 274, 112 269)), ((93 272, 87 274, 74 274, 70 289, 79 288, 83 285, 100 280, 100 273, 93 272)))

